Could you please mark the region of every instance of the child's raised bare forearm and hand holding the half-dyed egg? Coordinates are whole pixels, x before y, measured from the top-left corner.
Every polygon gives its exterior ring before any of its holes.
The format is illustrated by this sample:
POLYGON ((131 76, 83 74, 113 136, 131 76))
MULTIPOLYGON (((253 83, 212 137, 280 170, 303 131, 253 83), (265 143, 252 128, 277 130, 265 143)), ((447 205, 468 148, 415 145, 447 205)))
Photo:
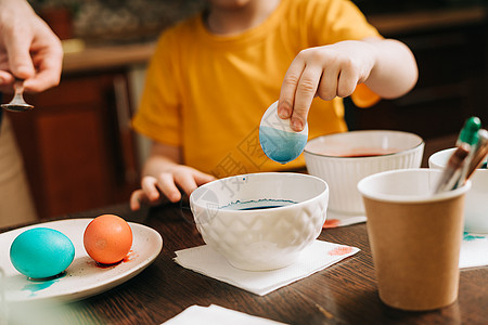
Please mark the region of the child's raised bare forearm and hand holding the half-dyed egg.
POLYGON ((301 131, 314 96, 345 98, 364 82, 382 98, 399 98, 415 86, 418 74, 412 52, 397 40, 369 38, 310 48, 298 53, 286 72, 278 113, 301 131))

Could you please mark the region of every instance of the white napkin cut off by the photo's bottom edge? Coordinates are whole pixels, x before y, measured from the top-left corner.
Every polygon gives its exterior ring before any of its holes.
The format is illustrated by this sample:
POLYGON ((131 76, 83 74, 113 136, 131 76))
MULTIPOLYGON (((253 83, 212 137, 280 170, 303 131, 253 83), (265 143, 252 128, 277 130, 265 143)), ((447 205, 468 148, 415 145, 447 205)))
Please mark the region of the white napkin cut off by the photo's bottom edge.
POLYGON ((217 304, 209 307, 190 306, 164 325, 279 325, 284 324, 262 317, 237 312, 217 304))

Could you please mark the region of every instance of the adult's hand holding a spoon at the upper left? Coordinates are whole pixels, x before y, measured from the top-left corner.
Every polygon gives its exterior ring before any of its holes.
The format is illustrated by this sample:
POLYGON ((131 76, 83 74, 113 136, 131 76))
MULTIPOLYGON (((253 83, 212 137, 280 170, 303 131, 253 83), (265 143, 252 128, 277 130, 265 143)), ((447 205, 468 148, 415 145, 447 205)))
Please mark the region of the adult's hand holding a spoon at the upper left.
POLYGON ((57 86, 63 49, 60 39, 25 0, 0 0, 0 91, 15 77, 26 91, 57 86))

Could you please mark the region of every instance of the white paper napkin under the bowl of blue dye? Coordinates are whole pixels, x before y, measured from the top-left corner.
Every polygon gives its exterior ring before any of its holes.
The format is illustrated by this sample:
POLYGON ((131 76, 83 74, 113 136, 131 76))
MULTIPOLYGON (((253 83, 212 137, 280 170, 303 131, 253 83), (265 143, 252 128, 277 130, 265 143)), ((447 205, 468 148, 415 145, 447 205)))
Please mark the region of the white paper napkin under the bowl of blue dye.
POLYGON ((175 261, 183 268, 217 278, 253 294, 265 296, 280 287, 323 270, 359 251, 359 248, 314 240, 298 260, 273 271, 243 271, 208 245, 176 251, 175 261))

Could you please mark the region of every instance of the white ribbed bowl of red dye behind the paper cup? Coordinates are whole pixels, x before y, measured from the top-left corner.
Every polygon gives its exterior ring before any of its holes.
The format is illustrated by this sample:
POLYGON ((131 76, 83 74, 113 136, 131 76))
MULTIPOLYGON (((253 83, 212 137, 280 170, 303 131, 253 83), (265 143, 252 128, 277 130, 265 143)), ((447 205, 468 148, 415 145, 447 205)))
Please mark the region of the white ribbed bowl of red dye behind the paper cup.
POLYGON ((312 139, 304 155, 308 172, 330 186, 329 209, 341 214, 363 216, 358 182, 381 171, 419 168, 423 153, 424 141, 416 134, 367 130, 312 139))

